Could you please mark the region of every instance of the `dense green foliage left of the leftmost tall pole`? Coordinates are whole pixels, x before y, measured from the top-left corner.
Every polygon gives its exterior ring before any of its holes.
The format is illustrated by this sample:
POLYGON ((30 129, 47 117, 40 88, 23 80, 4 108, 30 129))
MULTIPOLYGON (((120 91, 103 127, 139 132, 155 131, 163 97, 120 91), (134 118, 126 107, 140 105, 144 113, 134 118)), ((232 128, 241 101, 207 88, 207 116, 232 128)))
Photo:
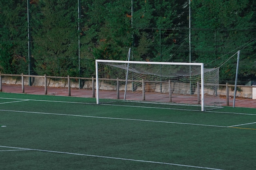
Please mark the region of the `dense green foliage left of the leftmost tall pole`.
POLYGON ((27 1, 0 1, 0 71, 28 73, 27 1))

